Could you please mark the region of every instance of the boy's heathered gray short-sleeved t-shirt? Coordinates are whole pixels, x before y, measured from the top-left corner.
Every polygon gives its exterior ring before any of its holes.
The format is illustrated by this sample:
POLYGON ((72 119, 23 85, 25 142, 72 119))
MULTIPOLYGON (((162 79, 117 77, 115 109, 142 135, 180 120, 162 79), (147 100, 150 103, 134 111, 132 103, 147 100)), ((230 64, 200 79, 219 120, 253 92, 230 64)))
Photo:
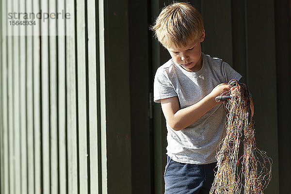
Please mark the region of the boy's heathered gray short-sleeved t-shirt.
MULTIPOLYGON (((186 71, 170 59, 157 69, 154 80, 154 101, 178 96, 180 109, 191 106, 208 95, 220 83, 241 75, 221 59, 202 53, 203 64, 198 72, 186 71)), ((225 135, 226 113, 218 104, 185 129, 175 131, 167 126, 167 155, 176 162, 206 164, 215 162, 216 147, 225 135)))

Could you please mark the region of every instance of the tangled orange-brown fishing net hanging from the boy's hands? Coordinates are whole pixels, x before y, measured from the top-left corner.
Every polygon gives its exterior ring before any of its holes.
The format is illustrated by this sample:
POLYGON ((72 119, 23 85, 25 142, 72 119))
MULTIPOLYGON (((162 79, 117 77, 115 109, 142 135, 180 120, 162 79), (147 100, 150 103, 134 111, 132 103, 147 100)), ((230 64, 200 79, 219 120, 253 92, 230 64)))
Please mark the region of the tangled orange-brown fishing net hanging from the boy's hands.
POLYGON ((233 88, 216 97, 224 103, 227 122, 226 137, 216 153, 217 172, 210 194, 240 194, 241 190, 263 194, 272 177, 272 159, 256 146, 247 86, 235 80, 228 84, 233 88))

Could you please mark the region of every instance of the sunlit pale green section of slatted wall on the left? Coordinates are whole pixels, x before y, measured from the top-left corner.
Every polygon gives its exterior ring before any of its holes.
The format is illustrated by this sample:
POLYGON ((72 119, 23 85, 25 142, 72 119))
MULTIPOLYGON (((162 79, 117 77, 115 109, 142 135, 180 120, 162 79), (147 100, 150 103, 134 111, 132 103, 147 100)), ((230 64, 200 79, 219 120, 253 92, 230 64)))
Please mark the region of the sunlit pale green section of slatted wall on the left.
POLYGON ((107 187, 97 3, 1 0, 1 194, 98 193, 101 176, 107 187), (7 18, 40 11, 70 18, 35 19, 35 26, 7 18))

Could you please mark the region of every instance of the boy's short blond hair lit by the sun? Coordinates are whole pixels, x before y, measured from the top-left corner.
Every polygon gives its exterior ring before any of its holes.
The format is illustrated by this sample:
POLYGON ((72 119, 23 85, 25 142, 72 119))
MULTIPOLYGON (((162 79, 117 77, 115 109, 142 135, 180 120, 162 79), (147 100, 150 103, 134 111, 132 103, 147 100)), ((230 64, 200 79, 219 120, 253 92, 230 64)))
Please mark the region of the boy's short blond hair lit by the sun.
POLYGON ((179 2, 162 9, 152 30, 165 48, 180 48, 200 39, 204 25, 201 14, 192 5, 179 2))

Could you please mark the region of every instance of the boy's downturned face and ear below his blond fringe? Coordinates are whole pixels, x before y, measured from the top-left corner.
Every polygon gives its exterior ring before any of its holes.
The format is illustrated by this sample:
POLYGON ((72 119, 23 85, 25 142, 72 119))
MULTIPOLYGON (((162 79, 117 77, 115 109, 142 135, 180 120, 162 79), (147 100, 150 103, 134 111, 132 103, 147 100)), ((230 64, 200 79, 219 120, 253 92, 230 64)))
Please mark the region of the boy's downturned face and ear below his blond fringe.
POLYGON ((190 72, 197 72, 202 67, 201 45, 205 38, 205 31, 203 31, 200 39, 189 42, 186 47, 167 48, 174 61, 181 65, 185 70, 190 72))

